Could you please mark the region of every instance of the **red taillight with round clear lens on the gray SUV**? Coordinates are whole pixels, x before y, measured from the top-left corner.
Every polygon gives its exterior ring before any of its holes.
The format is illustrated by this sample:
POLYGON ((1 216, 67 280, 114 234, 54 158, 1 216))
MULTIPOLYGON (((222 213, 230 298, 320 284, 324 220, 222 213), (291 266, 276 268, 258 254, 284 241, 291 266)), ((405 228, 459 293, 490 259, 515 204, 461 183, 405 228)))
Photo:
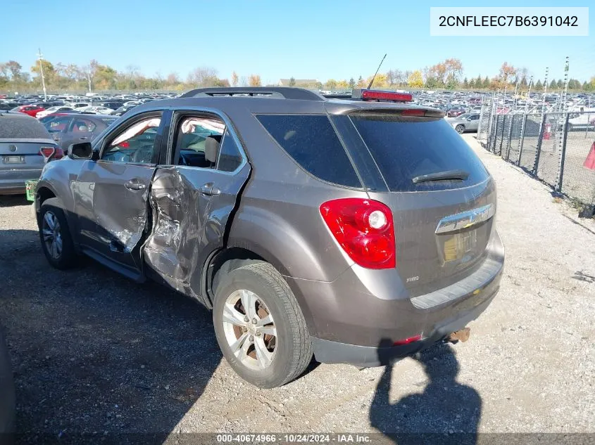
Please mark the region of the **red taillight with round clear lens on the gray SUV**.
POLYGON ((396 266, 392 212, 382 202, 363 198, 327 201, 320 214, 354 262, 368 269, 396 266))

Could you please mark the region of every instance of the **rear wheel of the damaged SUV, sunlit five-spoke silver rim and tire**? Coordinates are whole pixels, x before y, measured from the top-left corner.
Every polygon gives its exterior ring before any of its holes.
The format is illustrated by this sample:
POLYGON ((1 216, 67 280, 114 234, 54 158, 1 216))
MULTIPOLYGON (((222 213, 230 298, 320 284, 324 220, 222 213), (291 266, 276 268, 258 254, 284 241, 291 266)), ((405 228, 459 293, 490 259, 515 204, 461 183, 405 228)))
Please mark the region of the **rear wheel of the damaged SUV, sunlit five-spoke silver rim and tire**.
POLYGON ((213 324, 227 362, 257 387, 274 388, 294 380, 312 359, 296 297, 268 263, 247 264, 220 280, 213 324))

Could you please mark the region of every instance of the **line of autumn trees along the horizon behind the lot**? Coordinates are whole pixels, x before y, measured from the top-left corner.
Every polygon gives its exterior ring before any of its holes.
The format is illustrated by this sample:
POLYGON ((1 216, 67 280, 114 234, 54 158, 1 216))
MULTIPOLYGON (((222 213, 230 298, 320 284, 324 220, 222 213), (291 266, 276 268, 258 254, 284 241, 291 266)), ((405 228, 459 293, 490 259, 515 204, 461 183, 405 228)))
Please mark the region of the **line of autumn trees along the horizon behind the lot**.
MULTIPOLYGON (((87 65, 73 63, 51 63, 49 60, 38 60, 27 72, 15 60, 0 63, 0 91, 32 92, 40 91, 42 86, 41 72, 43 70, 46 89, 64 92, 82 91, 184 91, 200 86, 261 86, 261 76, 250 74, 240 76, 232 72, 229 79, 219 77, 218 71, 212 67, 197 67, 185 79, 176 72, 168 75, 150 77, 143 75, 136 65, 128 65, 125 70, 118 71, 109 65, 102 65, 97 60, 91 60, 87 65)), ((296 84, 296 79, 289 80, 289 86, 303 86, 323 90, 349 90, 365 88, 370 84, 372 76, 357 79, 328 79, 326 82, 312 84, 296 84)), ((492 76, 464 77, 463 63, 456 58, 449 58, 436 65, 427 66, 420 70, 391 69, 379 72, 372 84, 375 88, 389 89, 481 89, 527 91, 530 77, 525 67, 514 67, 503 63, 499 72, 492 76)), ((548 83, 549 91, 563 89, 561 79, 552 79, 548 83)), ((581 83, 577 79, 570 79, 568 88, 571 91, 595 91, 595 77, 581 83)), ((538 79, 532 84, 532 91, 544 91, 544 82, 538 79)))

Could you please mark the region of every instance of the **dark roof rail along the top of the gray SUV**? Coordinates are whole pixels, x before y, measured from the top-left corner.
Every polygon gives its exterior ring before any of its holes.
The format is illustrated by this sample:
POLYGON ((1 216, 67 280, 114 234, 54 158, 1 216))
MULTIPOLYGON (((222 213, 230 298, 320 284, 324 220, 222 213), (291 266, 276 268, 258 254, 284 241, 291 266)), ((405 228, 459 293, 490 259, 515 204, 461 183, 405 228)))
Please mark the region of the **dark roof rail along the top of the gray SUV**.
POLYGON ((294 88, 292 86, 234 86, 197 88, 182 94, 180 97, 217 97, 217 96, 267 96, 279 99, 298 99, 301 101, 324 101, 314 91, 294 88))

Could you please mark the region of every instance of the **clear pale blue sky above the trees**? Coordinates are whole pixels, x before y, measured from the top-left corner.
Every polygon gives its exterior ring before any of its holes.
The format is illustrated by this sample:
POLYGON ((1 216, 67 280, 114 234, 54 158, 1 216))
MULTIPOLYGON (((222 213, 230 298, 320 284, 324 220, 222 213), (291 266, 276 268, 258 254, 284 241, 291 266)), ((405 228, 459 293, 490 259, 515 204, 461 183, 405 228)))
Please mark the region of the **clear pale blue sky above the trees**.
POLYGON ((278 79, 357 79, 381 72, 416 70, 446 58, 463 63, 465 77, 493 77, 503 62, 527 67, 543 79, 595 76, 595 4, 592 0, 508 1, 481 6, 591 6, 589 37, 430 37, 430 6, 480 6, 477 1, 350 0, 0 0, 7 22, 23 32, 2 37, 0 62, 24 70, 37 49, 51 63, 89 60, 144 75, 185 79, 196 67, 219 77, 261 75, 278 79))

